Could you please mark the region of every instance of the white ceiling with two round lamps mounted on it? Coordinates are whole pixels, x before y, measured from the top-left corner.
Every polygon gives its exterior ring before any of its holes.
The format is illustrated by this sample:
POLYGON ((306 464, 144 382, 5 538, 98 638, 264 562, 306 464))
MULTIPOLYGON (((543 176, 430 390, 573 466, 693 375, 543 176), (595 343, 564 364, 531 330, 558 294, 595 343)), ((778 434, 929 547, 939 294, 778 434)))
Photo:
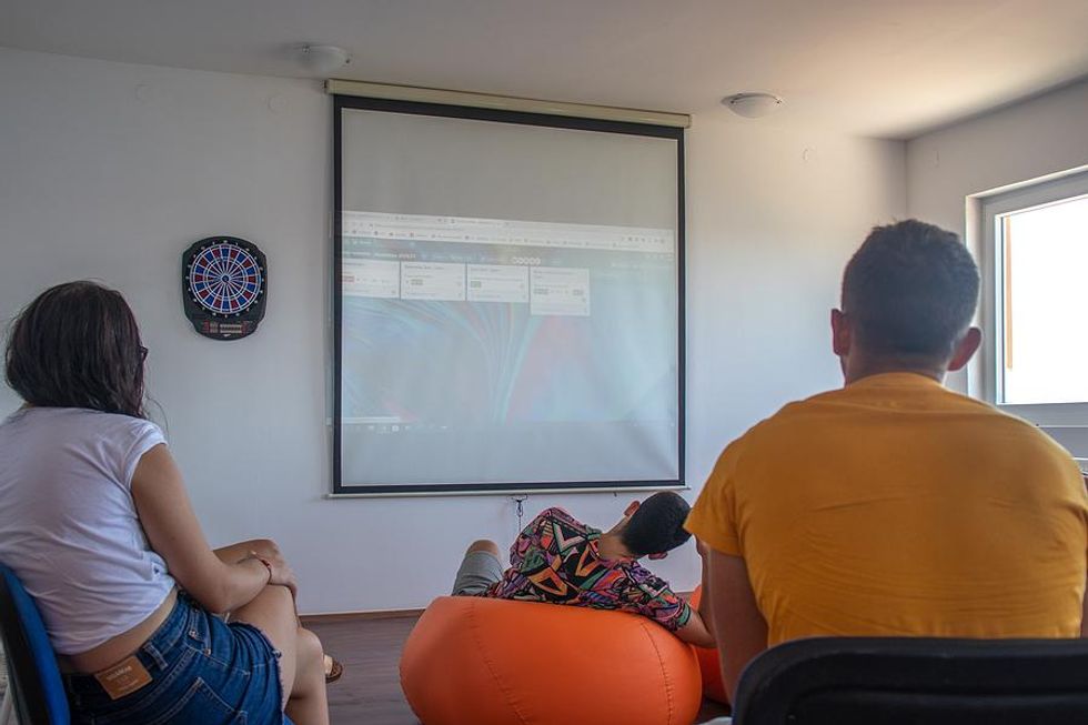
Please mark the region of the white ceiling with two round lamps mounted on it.
POLYGON ((769 91, 886 138, 1085 77, 1086 31, 1088 0, 0 0, 9 48, 304 77, 292 48, 331 43, 341 78, 723 114, 769 91))

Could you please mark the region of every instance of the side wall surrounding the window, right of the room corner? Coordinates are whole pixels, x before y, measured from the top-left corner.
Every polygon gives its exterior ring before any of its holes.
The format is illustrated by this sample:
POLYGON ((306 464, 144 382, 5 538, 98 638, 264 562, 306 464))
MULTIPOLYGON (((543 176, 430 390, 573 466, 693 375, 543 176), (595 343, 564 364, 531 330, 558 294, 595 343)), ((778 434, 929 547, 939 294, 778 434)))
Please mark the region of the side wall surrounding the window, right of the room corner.
MULTIPOLYGON (((1088 81, 927 133, 907 143, 907 211, 971 242, 966 199, 1088 164, 1088 81)), ((978 381, 978 356, 949 384, 978 381)), ((975 391, 976 386, 970 385, 975 391)))

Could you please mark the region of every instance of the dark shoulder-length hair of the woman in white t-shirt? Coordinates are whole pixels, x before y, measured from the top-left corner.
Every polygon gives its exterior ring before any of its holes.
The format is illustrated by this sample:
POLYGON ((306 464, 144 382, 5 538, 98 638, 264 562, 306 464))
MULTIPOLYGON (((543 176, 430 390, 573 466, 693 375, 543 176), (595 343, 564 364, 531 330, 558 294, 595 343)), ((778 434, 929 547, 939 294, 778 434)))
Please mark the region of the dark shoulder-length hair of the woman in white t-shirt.
POLYGON ((145 354, 120 292, 67 282, 42 292, 16 318, 4 374, 31 405, 143 417, 145 354))

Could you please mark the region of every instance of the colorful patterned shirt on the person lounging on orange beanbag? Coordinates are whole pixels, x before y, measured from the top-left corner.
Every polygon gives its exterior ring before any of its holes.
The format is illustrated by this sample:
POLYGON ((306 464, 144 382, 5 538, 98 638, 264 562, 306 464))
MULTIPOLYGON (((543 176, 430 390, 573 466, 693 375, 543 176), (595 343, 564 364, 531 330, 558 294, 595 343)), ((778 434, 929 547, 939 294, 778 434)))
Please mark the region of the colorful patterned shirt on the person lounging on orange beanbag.
POLYGON ((687 624, 691 607, 664 580, 638 562, 601 558, 600 538, 600 530, 547 508, 517 536, 511 567, 481 596, 634 612, 671 632, 687 624))

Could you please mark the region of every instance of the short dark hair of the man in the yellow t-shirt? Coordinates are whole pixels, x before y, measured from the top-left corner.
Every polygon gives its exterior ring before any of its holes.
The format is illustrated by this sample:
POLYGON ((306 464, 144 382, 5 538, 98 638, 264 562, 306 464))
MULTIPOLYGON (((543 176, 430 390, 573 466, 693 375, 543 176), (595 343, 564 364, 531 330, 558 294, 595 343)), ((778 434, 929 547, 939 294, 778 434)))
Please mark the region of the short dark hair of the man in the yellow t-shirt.
POLYGON ((959 238, 911 219, 877 226, 846 265, 843 311, 875 355, 944 363, 978 304, 978 268, 959 238))

